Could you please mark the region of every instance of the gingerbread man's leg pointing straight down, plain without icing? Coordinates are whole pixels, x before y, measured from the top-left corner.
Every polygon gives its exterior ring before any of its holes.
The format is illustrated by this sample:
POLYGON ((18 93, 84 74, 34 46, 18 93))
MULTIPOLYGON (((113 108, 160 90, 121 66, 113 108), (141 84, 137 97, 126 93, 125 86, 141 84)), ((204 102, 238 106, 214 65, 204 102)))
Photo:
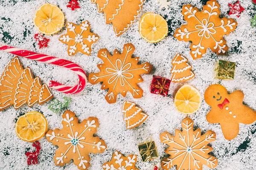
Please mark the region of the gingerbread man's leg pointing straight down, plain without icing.
POLYGON ((221 124, 222 133, 227 140, 236 138, 239 133, 239 123, 225 122, 221 124))

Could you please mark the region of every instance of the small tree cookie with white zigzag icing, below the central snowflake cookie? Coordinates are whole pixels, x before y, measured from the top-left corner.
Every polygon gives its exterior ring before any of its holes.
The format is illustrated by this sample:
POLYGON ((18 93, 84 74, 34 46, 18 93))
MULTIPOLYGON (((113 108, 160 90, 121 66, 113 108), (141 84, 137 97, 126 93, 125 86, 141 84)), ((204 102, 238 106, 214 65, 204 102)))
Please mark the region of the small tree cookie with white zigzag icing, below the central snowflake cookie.
POLYGON ((126 121, 126 128, 131 129, 141 125, 148 117, 146 113, 142 112, 142 108, 136 106, 134 102, 125 101, 122 108, 124 113, 124 121, 126 121))

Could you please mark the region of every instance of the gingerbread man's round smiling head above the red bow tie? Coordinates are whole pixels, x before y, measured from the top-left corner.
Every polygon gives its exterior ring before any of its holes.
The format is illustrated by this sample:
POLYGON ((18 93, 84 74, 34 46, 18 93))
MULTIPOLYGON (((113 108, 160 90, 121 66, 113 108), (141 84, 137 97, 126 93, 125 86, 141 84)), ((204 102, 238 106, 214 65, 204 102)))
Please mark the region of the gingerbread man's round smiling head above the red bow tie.
POLYGON ((204 99, 208 105, 218 106, 226 99, 227 95, 227 90, 224 86, 210 85, 204 93, 204 99))

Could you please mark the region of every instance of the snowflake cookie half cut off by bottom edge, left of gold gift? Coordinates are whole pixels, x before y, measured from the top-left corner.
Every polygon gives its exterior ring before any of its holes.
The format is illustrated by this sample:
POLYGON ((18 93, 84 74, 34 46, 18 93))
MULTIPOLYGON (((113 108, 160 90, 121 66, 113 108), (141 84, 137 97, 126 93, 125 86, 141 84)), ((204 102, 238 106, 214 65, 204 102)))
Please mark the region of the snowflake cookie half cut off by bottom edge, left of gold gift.
POLYGON ((136 155, 123 156, 120 152, 115 151, 111 161, 102 165, 104 170, 139 170, 135 167, 137 162, 136 155))

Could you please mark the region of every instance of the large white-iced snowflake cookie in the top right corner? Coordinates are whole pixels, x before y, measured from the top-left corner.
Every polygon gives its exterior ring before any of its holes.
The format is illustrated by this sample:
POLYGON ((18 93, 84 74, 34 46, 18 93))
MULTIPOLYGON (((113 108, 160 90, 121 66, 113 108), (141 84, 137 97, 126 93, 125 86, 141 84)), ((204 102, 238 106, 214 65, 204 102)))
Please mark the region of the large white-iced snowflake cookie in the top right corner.
POLYGON ((174 36, 180 41, 192 41, 190 54, 193 59, 201 58, 207 48, 218 55, 227 52, 223 36, 234 31, 237 23, 226 17, 219 18, 219 7, 216 0, 209 0, 202 11, 190 4, 183 6, 182 14, 188 23, 177 28, 174 36))

